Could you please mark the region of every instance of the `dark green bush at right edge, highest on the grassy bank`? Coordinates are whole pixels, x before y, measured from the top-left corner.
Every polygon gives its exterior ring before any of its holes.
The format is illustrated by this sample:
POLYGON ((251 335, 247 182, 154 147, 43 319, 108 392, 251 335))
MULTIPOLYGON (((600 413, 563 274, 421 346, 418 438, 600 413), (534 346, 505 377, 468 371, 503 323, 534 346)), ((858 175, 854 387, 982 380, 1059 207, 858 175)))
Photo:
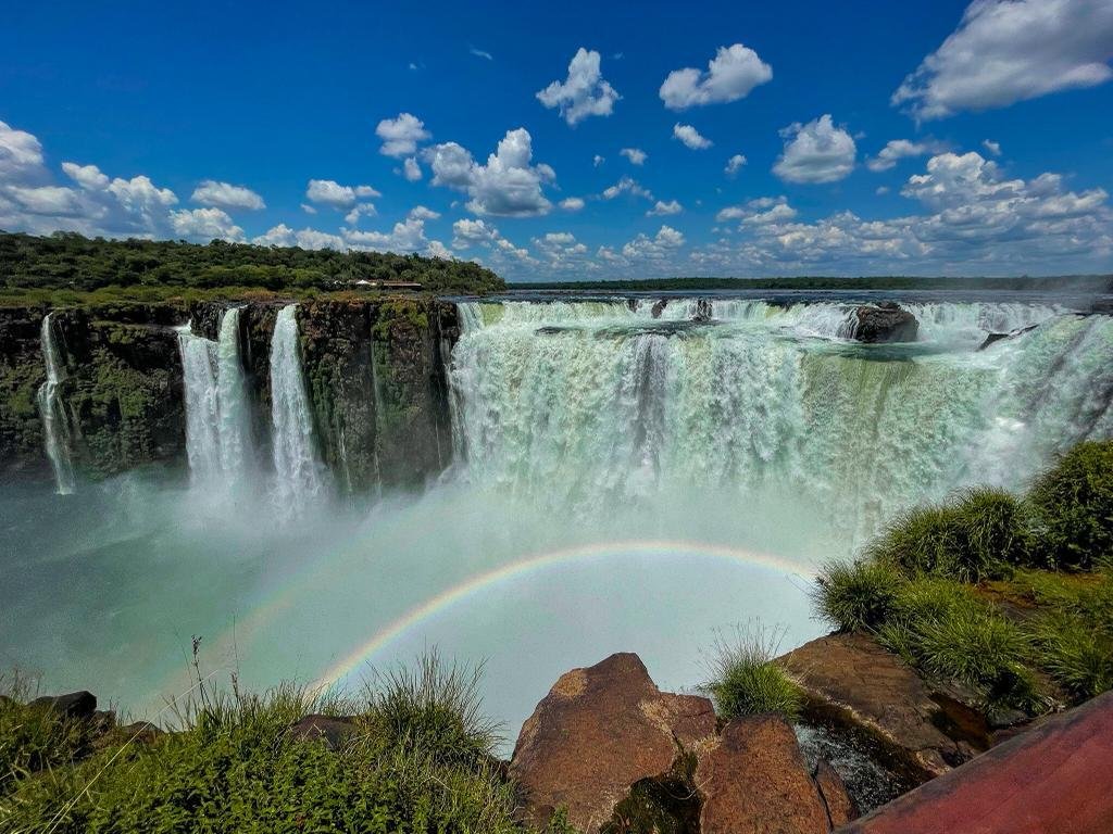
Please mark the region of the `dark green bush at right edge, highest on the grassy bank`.
POLYGON ((1080 443, 1036 480, 1028 500, 1045 566, 1089 570, 1113 555, 1113 440, 1080 443))

